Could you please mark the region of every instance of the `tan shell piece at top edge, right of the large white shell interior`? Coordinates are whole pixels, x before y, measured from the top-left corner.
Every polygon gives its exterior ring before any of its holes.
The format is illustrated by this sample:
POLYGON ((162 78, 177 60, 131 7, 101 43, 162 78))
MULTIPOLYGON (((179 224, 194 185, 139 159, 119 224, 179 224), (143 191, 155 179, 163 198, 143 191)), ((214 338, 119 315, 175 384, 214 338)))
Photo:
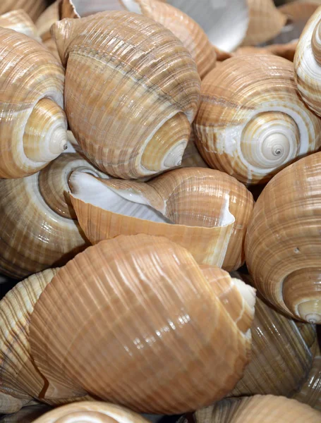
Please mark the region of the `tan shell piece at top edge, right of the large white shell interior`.
POLYGON ((273 0, 248 0, 250 22, 243 39, 243 46, 255 46, 275 37, 286 23, 286 16, 275 6, 273 0))

